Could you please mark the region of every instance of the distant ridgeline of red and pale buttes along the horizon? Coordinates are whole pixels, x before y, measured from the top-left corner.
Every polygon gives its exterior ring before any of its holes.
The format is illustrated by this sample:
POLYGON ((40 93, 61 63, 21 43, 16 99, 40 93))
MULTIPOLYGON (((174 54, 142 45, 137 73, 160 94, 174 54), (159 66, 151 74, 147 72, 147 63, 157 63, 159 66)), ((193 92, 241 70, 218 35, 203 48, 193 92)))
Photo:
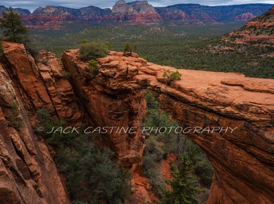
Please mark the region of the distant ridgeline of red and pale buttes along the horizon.
MULTIPOLYGON (((272 6, 264 3, 223 6, 186 3, 154 8, 148 1, 134 1, 131 3, 117 1, 112 10, 109 8, 101 9, 92 5, 80 9, 47 6, 37 8, 33 13, 22 8, 15 8, 14 10, 21 14, 23 22, 29 28, 60 29, 75 22, 95 25, 110 25, 116 22, 134 25, 173 22, 193 25, 232 23, 235 21, 246 22, 267 12, 272 6)), ((0 6, 1 10, 8 11, 8 8, 0 6)))

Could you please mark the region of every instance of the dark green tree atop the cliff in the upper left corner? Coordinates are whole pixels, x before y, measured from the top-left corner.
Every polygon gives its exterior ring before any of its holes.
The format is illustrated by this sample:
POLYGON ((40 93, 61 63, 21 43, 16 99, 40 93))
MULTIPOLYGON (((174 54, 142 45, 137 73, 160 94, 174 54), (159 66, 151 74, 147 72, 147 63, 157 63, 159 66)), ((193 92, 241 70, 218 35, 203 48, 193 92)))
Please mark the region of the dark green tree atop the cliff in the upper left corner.
POLYGON ((12 8, 8 12, 2 12, 0 28, 3 30, 3 36, 12 42, 22 42, 23 36, 27 34, 27 28, 23 26, 21 16, 15 13, 12 8))

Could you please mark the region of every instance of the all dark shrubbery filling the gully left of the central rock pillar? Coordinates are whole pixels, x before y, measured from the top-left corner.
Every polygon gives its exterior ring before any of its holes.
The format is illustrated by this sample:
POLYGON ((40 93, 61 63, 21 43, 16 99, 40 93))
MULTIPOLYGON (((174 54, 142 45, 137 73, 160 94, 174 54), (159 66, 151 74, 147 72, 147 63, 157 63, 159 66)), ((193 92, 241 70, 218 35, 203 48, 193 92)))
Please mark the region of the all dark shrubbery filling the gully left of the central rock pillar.
POLYGON ((66 177, 73 203, 124 203, 130 194, 131 175, 116 162, 110 149, 100 148, 99 136, 47 133, 53 127, 64 127, 66 122, 53 120, 45 108, 36 114, 43 137, 55 151, 58 170, 66 177))

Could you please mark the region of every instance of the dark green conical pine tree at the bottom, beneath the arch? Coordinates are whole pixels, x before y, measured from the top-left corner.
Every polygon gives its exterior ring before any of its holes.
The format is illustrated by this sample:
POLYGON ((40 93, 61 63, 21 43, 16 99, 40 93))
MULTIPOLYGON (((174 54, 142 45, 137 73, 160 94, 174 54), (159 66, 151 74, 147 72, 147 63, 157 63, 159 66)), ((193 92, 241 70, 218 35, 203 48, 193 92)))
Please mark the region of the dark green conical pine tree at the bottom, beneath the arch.
POLYGON ((197 178, 192 175, 193 169, 190 159, 187 155, 182 155, 179 159, 179 165, 172 164, 172 180, 166 181, 171 185, 172 190, 164 190, 162 203, 173 204, 195 204, 197 193, 200 191, 197 186, 197 178))

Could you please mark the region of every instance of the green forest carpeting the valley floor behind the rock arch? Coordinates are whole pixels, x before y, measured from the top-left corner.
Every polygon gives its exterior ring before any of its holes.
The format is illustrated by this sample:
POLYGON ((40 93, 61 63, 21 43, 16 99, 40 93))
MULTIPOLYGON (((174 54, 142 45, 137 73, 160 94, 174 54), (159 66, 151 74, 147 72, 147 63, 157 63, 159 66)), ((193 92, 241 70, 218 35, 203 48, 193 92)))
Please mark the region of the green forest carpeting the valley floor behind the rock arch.
POLYGON ((156 64, 273 78, 273 44, 234 44, 220 37, 241 26, 241 23, 191 27, 131 25, 31 32, 36 36, 38 49, 47 49, 59 56, 66 49, 79 48, 83 39, 107 40, 114 51, 123 51, 128 41, 138 44, 137 53, 141 58, 156 64))

